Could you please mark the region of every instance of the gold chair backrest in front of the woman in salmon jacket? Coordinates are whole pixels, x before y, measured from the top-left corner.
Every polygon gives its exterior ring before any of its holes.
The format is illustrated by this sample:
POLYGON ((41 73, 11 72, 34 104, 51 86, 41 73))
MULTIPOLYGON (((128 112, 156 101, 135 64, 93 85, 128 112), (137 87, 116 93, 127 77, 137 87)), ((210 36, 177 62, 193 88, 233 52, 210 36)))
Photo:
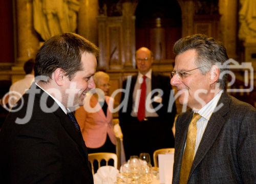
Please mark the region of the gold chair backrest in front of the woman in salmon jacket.
POLYGON ((115 153, 102 152, 102 153, 90 153, 90 154, 88 154, 88 160, 89 160, 89 163, 91 164, 91 167, 92 167, 92 173, 94 174, 94 172, 96 172, 94 170, 94 166, 93 166, 93 163, 94 163, 95 160, 98 163, 98 168, 100 168, 100 162, 102 160, 105 160, 106 165, 109 165, 109 161, 111 159, 114 160, 114 167, 117 169, 117 155, 115 153))

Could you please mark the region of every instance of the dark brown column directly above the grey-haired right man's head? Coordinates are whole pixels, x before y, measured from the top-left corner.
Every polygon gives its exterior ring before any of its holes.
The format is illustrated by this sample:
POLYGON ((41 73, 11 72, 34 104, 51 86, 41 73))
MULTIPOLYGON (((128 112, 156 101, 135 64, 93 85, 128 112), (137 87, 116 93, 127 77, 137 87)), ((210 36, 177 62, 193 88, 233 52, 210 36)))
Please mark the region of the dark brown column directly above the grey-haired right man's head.
POLYGON ((182 14, 182 37, 194 34, 195 3, 193 0, 178 0, 182 14))

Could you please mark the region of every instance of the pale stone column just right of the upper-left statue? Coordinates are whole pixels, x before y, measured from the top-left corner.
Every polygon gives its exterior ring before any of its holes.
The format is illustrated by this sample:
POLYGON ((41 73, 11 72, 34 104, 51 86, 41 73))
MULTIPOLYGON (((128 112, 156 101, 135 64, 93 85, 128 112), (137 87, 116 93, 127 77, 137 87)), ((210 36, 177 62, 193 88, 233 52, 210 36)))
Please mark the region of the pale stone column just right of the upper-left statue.
POLYGON ((91 42, 98 43, 98 1, 80 0, 78 13, 78 34, 91 42))

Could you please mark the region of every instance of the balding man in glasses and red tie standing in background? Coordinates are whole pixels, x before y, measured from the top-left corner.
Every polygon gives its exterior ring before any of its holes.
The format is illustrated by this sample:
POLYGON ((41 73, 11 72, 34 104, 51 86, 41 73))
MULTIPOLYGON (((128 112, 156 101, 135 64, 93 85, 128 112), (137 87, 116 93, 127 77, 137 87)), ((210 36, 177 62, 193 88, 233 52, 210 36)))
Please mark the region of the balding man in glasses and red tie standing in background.
MULTIPOLYGON (((136 51, 138 74, 132 76, 127 104, 119 110, 127 160, 131 155, 147 152, 153 161, 155 150, 174 147, 175 104, 168 110, 169 98, 173 98, 172 87, 168 76, 152 71, 153 60, 150 49, 141 47, 136 51)), ((127 80, 123 82, 123 89, 127 89, 126 84, 127 80)), ((124 98, 122 93, 121 102, 124 98)))

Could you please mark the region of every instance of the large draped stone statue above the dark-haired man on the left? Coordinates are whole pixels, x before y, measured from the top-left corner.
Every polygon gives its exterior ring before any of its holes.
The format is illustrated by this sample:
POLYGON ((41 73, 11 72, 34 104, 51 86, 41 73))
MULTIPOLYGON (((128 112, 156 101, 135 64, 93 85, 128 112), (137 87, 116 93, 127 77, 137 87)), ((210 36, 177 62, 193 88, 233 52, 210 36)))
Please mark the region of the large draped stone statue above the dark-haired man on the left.
POLYGON ((78 10, 77 0, 33 0, 34 28, 44 40, 75 32, 78 10))

